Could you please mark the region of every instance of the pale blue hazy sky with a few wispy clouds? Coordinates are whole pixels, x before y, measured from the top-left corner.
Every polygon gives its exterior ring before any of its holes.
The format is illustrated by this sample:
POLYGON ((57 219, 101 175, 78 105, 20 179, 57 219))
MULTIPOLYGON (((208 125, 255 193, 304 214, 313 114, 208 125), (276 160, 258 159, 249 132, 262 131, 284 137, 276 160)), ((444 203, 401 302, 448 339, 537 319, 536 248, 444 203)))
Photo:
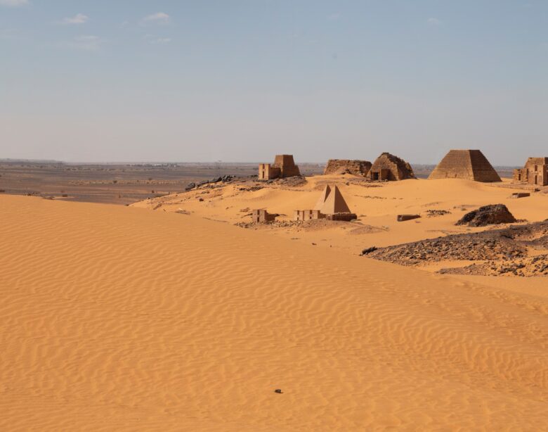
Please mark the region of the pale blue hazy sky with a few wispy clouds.
POLYGON ((546 0, 0 0, 0 158, 548 156, 546 0))

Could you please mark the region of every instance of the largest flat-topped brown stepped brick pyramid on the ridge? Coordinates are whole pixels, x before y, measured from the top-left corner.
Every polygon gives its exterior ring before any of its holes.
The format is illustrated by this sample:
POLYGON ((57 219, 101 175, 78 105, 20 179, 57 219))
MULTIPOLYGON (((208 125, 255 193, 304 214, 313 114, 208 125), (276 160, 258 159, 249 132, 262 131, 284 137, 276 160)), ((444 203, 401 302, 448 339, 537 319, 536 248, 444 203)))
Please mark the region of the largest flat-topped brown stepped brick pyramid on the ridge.
POLYGON ((499 174, 479 150, 451 150, 438 163, 429 179, 467 179, 500 182, 499 174))

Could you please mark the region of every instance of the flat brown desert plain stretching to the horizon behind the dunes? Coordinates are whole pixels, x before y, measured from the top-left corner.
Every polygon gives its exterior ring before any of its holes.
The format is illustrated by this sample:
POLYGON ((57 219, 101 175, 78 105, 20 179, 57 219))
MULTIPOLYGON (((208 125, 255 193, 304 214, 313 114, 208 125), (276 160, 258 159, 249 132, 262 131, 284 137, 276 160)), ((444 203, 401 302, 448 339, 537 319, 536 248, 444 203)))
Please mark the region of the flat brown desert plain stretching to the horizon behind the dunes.
MULTIPOLYGON (((303 174, 322 172, 304 164, 303 174)), ((69 164, 0 160, 2 193, 89 203, 131 204, 183 191, 190 182, 257 174, 255 163, 69 164)))

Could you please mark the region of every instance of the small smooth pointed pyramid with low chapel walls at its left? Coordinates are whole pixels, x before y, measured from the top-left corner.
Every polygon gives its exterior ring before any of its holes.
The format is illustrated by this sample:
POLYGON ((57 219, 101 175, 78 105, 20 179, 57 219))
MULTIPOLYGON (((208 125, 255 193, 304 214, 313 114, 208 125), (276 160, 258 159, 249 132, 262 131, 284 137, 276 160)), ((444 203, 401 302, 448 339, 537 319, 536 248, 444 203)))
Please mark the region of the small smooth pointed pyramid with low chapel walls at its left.
POLYGON ((312 220, 312 219, 327 219, 327 220, 345 220, 350 221, 357 219, 355 213, 350 211, 348 204, 337 186, 325 186, 318 198, 318 202, 313 210, 295 210, 294 220, 312 220))

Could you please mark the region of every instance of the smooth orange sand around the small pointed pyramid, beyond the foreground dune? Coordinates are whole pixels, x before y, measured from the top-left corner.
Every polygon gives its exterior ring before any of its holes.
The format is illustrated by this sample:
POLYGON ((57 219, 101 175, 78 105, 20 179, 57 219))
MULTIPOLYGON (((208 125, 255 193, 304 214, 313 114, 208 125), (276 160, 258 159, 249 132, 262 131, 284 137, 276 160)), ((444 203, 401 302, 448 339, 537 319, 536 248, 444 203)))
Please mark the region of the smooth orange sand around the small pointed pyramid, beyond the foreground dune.
POLYGON ((481 228, 455 227, 455 222, 466 212, 486 204, 503 203, 520 220, 535 222, 548 218, 547 193, 512 199, 512 192, 522 190, 512 189, 511 186, 515 185, 508 181, 486 184, 461 179, 410 179, 360 184, 355 183, 359 179, 353 176, 320 175, 306 179, 306 184, 293 188, 257 183, 266 187, 242 191, 241 184, 228 184, 218 189, 197 189, 145 200, 133 206, 166 212, 185 210, 232 224, 250 222, 250 209, 266 208, 269 212, 282 214, 278 220, 292 220, 293 210, 313 208, 325 184, 337 184, 350 209, 358 215, 359 222, 330 224, 330 228, 316 231, 283 228, 268 229, 268 232, 353 254, 370 246, 391 246, 447 234, 481 231, 481 228), (426 217, 426 210, 448 210, 450 214, 426 217), (409 213, 423 217, 396 222, 398 214, 409 213))

